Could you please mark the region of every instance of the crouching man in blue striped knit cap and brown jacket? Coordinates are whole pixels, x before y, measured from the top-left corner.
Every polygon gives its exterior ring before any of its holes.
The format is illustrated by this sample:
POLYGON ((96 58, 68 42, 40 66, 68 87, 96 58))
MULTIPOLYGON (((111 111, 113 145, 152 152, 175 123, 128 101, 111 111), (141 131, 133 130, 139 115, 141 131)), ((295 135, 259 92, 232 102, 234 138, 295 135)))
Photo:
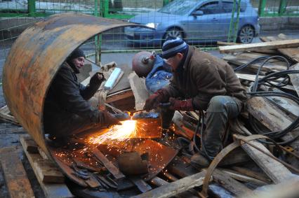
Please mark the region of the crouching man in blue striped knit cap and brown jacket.
POLYGON ((168 86, 150 95, 144 109, 171 104, 161 108, 164 130, 170 126, 174 111, 206 111, 203 145, 191 159, 206 167, 222 149, 228 120, 239 115, 246 92, 229 64, 187 45, 181 38, 166 41, 162 55, 171 66, 173 78, 168 86))

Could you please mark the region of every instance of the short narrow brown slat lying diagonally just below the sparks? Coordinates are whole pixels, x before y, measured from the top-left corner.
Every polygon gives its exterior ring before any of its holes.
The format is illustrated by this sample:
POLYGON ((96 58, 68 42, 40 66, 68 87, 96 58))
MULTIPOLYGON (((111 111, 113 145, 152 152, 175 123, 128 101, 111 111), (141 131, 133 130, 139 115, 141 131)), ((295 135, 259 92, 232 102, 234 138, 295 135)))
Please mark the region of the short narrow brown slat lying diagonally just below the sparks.
POLYGON ((126 177, 121 173, 121 171, 119 171, 119 169, 117 169, 117 167, 114 166, 114 164, 112 164, 112 162, 107 159, 107 157, 105 157, 104 154, 102 154, 102 152, 100 152, 100 150, 98 150, 98 148, 93 148, 92 153, 95 155, 95 157, 98 158, 98 160, 100 160, 100 162, 102 162, 102 164, 104 164, 104 166, 114 176, 114 178, 119 180, 126 177))

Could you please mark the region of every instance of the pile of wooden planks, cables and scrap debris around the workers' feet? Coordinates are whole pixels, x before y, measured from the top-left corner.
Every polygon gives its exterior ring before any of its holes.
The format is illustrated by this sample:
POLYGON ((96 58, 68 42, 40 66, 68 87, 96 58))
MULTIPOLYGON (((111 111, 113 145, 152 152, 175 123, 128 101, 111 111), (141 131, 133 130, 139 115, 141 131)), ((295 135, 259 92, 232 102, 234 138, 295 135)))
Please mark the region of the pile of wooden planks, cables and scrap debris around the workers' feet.
MULTIPOLYGON (((28 136, 21 136, 46 197, 69 196, 68 191, 61 196, 55 193, 53 186, 64 183, 65 178, 58 169, 45 167, 56 164, 72 180, 67 183, 72 193, 80 197, 298 195, 299 41, 282 34, 261 40, 269 42, 219 43, 227 45, 220 52, 231 54, 223 59, 235 69, 251 98, 239 118, 230 121, 232 136, 208 168, 190 163, 194 152, 190 145, 200 138, 196 132, 199 113, 176 111, 173 134, 161 134, 159 115, 136 113, 122 133, 121 128, 105 129, 76 136, 62 148, 50 148, 55 163, 28 136), (136 127, 138 134, 133 133, 136 127)), ((124 76, 105 93, 107 106, 110 111, 141 110, 149 96, 145 79, 128 71, 128 66, 120 67, 124 76)), ((4 160, 1 164, 8 169, 4 160)))

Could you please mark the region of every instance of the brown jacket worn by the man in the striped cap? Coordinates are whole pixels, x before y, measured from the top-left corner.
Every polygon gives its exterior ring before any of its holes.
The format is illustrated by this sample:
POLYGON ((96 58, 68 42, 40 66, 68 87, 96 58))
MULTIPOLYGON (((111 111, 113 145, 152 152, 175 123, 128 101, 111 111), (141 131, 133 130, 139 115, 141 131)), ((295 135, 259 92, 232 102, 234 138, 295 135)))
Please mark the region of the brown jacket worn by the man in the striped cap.
POLYGON ((218 95, 246 100, 246 91, 234 70, 222 59, 190 46, 183 69, 181 82, 179 73, 173 72, 171 84, 165 89, 170 97, 192 98, 196 110, 206 110, 211 98, 218 95))

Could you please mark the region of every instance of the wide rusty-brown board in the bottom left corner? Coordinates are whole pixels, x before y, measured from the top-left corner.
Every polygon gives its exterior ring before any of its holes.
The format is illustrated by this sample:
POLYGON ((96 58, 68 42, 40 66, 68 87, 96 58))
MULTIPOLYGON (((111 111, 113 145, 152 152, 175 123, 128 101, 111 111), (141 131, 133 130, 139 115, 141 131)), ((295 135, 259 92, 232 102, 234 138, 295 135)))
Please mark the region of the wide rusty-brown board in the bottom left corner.
POLYGON ((1 148, 0 162, 10 197, 34 197, 26 171, 15 147, 1 148))

